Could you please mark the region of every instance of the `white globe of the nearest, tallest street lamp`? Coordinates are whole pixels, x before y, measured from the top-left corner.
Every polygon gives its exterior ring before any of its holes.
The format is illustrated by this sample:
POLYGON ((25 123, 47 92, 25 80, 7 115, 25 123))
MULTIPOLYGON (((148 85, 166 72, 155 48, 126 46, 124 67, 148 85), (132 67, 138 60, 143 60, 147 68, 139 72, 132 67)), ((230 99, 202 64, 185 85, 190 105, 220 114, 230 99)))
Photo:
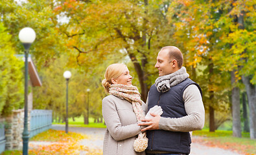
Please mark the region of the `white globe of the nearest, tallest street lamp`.
POLYGON ((36 32, 30 27, 22 28, 19 31, 19 40, 21 43, 33 43, 36 39, 36 32))

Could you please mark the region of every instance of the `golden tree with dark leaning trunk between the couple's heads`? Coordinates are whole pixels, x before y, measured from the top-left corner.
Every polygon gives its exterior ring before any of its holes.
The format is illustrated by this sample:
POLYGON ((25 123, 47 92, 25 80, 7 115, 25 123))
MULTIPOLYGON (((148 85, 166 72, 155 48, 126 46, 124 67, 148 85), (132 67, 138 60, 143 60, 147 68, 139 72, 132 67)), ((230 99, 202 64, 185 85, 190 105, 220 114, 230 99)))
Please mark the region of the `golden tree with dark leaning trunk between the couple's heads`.
POLYGON ((59 1, 59 4, 56 14, 69 17, 69 23, 60 26, 60 32, 67 37, 67 46, 73 48, 78 63, 91 62, 90 53, 100 60, 108 54, 130 57, 139 78, 141 98, 146 101, 157 52, 173 41, 166 19, 169 3, 59 1))

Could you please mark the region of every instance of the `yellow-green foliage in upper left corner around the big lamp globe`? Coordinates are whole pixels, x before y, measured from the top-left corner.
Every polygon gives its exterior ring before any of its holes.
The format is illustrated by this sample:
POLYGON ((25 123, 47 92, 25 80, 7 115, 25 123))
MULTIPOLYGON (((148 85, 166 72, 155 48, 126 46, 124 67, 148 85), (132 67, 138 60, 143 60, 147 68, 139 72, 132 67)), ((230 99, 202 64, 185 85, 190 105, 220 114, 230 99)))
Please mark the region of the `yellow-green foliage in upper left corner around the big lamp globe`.
POLYGON ((53 9, 54 2, 51 0, 0 2, 1 20, 12 35, 10 41, 16 45, 18 54, 23 54, 23 45, 18 39, 19 30, 29 26, 36 32, 36 40, 30 47, 30 54, 36 60, 38 70, 51 63, 60 52, 66 51, 56 31, 57 17, 53 9))

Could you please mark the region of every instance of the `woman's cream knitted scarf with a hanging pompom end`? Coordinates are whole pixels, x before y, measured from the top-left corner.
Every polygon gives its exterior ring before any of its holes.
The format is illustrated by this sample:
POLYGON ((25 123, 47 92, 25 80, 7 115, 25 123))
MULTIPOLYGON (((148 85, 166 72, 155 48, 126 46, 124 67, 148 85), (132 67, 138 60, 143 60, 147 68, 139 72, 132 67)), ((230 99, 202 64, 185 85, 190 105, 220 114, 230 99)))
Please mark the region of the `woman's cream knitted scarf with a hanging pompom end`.
MULTIPOLYGON (((137 118, 137 121, 141 121, 141 119, 145 118, 145 114, 141 107, 141 94, 139 94, 139 90, 137 87, 114 84, 110 85, 110 94, 114 96, 118 96, 126 99, 130 103, 132 103, 132 108, 134 108, 134 112, 137 118)), ((134 150, 136 152, 142 152, 148 147, 148 138, 146 138, 146 132, 140 133, 138 138, 134 141, 134 150)))

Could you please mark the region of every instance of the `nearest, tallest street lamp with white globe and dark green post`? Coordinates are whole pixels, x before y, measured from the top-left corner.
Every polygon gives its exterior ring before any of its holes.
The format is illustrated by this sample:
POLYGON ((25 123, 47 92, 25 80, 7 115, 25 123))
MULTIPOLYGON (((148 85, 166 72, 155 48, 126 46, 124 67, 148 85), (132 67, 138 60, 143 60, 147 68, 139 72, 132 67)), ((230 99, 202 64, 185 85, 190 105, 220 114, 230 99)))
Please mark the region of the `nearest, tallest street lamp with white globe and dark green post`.
POLYGON ((25 48, 25 92, 24 92, 24 129, 22 133, 23 139, 23 155, 27 155, 29 153, 29 130, 28 130, 28 76, 29 76, 29 65, 28 65, 28 57, 29 57, 29 48, 31 44, 36 39, 36 32, 32 28, 25 27, 19 31, 19 41, 23 44, 25 48))

